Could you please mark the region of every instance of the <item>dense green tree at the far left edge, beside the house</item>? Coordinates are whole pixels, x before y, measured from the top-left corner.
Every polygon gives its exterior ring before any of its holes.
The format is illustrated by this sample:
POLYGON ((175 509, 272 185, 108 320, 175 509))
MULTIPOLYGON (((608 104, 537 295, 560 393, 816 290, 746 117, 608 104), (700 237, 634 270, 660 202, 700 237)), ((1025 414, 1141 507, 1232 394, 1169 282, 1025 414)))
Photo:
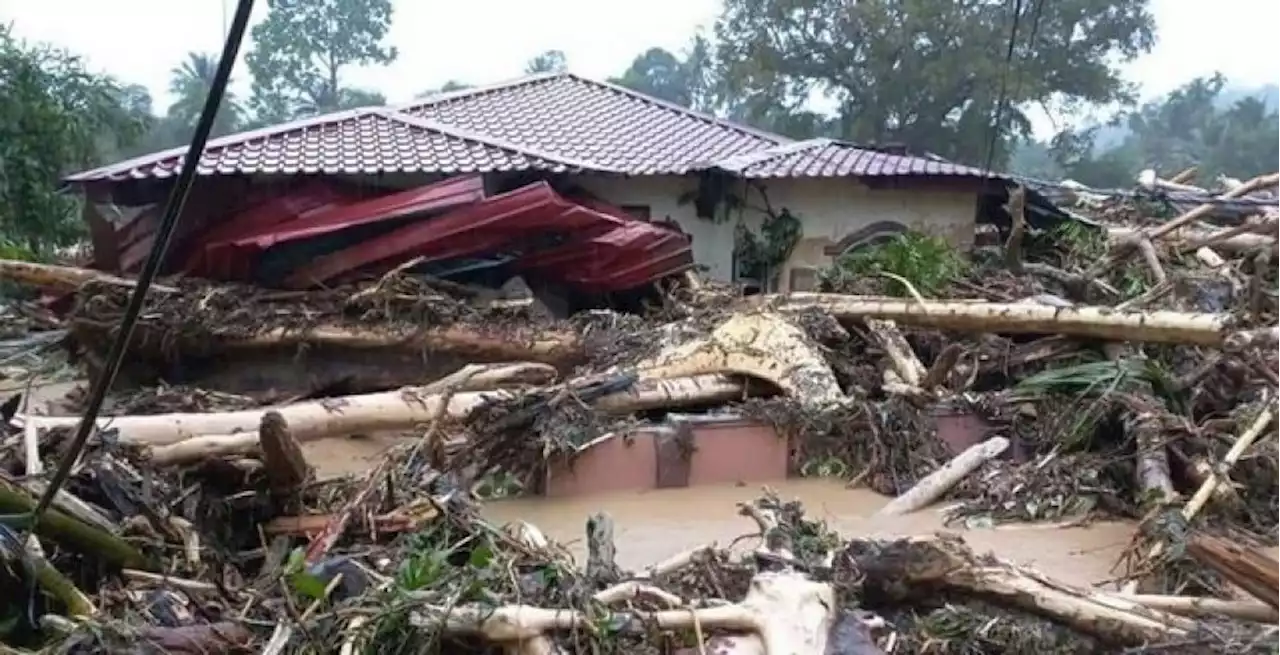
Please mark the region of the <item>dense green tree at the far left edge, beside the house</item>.
POLYGON ((65 50, 0 27, 0 241, 32 255, 76 243, 83 225, 59 179, 101 164, 148 127, 142 87, 90 73, 65 50))

